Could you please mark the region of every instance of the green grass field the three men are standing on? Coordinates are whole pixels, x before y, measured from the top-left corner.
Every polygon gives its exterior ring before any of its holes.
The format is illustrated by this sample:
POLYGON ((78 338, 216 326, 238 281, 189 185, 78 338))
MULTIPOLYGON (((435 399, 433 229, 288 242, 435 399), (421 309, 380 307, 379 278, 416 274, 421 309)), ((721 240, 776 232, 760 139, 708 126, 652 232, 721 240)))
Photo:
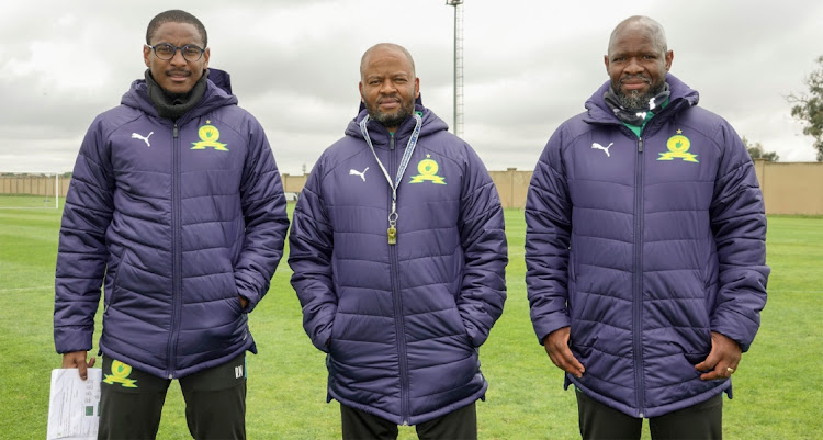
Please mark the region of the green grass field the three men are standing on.
MULTIPOLYGON (((0 196, 0 438, 46 435, 54 267, 60 212, 3 210, 0 196)), ((38 206, 42 201, 33 201, 38 206)), ((523 281, 522 213, 506 212, 508 293, 503 317, 481 350, 488 379, 477 405, 481 439, 575 439, 577 414, 563 375, 537 343, 523 281)), ((823 218, 769 217, 768 304, 752 350, 724 402, 726 439, 823 438, 823 218)), ((249 439, 340 438, 337 404, 326 404, 324 354, 303 332, 285 260, 250 315, 260 354, 248 361, 249 439)), ((97 339, 95 347, 97 350, 97 339)), ((189 439, 183 399, 169 391, 159 439, 189 439)), ((404 427, 402 439, 414 439, 404 427)), ((647 428, 644 438, 649 438, 647 428)))

